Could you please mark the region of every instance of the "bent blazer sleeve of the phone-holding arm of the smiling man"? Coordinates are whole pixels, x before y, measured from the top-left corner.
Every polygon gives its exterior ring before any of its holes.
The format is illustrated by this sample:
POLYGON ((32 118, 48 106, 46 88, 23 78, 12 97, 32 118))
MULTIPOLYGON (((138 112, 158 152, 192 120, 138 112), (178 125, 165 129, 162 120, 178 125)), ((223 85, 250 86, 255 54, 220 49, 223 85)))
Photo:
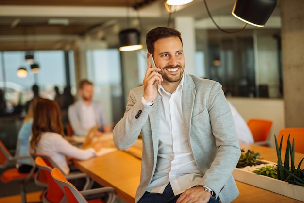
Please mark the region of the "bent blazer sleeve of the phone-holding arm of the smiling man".
POLYGON ((113 129, 113 141, 120 150, 127 149, 135 143, 153 108, 153 105, 145 106, 142 103, 142 96, 143 89, 140 87, 130 91, 123 118, 113 129))

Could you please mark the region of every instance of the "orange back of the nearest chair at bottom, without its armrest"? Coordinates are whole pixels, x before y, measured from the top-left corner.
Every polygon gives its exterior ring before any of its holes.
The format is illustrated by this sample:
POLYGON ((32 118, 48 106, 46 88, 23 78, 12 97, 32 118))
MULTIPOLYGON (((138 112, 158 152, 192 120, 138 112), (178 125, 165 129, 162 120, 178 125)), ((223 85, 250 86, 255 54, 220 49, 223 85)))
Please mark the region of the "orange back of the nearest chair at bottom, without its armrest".
POLYGON ((82 196, 82 194, 79 193, 79 191, 76 189, 75 186, 73 186, 70 182, 68 182, 66 177, 62 174, 62 172, 59 169, 57 169, 57 168, 52 169, 51 174, 52 174, 52 177, 54 178, 54 180, 58 184, 60 184, 62 186, 62 188, 65 190, 68 203, 79 203, 79 201, 75 197, 75 194, 82 199, 81 202, 87 203, 87 201, 82 196), (73 191, 74 191, 74 193, 73 193, 73 191))

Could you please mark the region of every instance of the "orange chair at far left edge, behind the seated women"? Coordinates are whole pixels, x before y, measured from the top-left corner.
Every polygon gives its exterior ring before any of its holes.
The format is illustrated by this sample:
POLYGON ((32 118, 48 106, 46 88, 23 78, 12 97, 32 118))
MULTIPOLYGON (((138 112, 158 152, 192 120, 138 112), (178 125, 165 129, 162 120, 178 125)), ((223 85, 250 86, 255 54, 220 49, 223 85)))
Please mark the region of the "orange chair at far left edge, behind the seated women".
MULTIPOLYGON (((11 161, 14 161, 18 158, 22 157, 13 157, 0 140, 0 168, 5 169, 11 161)), ((28 158, 28 156, 24 156, 24 158, 28 158)), ((35 167, 33 167, 29 173, 19 173, 17 168, 7 169, 1 174, 0 179, 3 183, 8 183, 11 181, 19 182, 21 184, 21 201, 22 203, 25 203, 25 186, 29 180, 35 176, 34 170, 35 167)))

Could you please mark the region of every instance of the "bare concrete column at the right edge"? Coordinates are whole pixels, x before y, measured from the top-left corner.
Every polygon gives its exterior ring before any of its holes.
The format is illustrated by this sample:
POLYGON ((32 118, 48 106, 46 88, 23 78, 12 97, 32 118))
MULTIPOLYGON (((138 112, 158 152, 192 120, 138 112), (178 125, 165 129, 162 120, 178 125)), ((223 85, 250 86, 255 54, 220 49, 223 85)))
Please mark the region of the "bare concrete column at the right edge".
POLYGON ((280 0, 285 126, 304 127, 304 1, 280 0))

